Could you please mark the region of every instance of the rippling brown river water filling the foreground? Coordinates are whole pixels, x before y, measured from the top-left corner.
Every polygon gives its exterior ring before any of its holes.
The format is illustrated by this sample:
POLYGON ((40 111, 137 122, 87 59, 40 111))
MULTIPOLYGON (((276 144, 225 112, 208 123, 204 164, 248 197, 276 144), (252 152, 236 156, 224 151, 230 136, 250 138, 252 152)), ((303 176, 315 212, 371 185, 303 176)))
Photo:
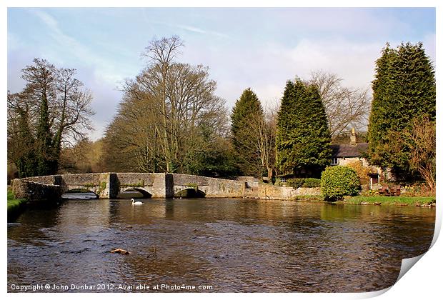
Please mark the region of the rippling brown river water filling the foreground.
POLYGON ((9 291, 11 284, 376 291, 394 284, 401 260, 427 251, 434 234, 435 210, 421 207, 139 201, 69 200, 21 214, 8 224, 9 291), (115 248, 131 254, 111 254, 115 248))

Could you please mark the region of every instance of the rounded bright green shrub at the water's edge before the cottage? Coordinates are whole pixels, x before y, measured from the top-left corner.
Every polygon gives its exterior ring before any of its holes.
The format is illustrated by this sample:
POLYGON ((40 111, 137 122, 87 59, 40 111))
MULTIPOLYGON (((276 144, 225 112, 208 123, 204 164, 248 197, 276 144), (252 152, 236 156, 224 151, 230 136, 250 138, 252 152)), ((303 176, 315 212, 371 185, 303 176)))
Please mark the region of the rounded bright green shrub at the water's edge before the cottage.
POLYGON ((357 195, 359 177, 349 166, 328 166, 322 172, 322 194, 328 201, 343 199, 343 196, 357 195))

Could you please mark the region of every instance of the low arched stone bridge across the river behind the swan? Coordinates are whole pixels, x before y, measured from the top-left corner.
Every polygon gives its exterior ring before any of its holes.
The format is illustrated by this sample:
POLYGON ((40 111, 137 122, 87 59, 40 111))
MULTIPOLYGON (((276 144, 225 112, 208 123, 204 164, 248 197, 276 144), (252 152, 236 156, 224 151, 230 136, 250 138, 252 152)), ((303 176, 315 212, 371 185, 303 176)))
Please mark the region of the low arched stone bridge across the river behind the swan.
POLYGON ((122 191, 136 190, 146 198, 174 198, 193 190, 205 197, 240 197, 246 180, 169 173, 60 174, 14 179, 17 198, 59 199, 67 191, 92 191, 101 199, 114 199, 122 191))

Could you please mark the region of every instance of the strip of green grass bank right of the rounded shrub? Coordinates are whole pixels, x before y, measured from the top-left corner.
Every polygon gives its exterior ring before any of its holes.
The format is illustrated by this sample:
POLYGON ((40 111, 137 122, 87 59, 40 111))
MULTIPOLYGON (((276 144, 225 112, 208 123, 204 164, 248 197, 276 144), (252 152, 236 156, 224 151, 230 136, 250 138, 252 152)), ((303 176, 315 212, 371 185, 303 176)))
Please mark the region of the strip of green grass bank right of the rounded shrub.
POLYGON ((434 204, 435 197, 405 196, 354 196, 344 200, 345 204, 381 204, 381 205, 422 205, 434 204))

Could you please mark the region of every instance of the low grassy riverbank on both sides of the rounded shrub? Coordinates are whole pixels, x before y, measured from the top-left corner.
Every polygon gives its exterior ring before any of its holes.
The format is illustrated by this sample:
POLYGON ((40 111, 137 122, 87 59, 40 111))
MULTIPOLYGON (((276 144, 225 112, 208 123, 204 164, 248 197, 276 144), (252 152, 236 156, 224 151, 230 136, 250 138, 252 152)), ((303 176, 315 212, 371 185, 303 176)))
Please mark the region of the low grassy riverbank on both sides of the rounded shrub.
MULTIPOLYGON (((322 196, 297 196, 293 201, 324 202, 322 196)), ((398 205, 398 206, 435 206, 435 197, 407 196, 352 196, 337 204, 350 205, 398 205)))

